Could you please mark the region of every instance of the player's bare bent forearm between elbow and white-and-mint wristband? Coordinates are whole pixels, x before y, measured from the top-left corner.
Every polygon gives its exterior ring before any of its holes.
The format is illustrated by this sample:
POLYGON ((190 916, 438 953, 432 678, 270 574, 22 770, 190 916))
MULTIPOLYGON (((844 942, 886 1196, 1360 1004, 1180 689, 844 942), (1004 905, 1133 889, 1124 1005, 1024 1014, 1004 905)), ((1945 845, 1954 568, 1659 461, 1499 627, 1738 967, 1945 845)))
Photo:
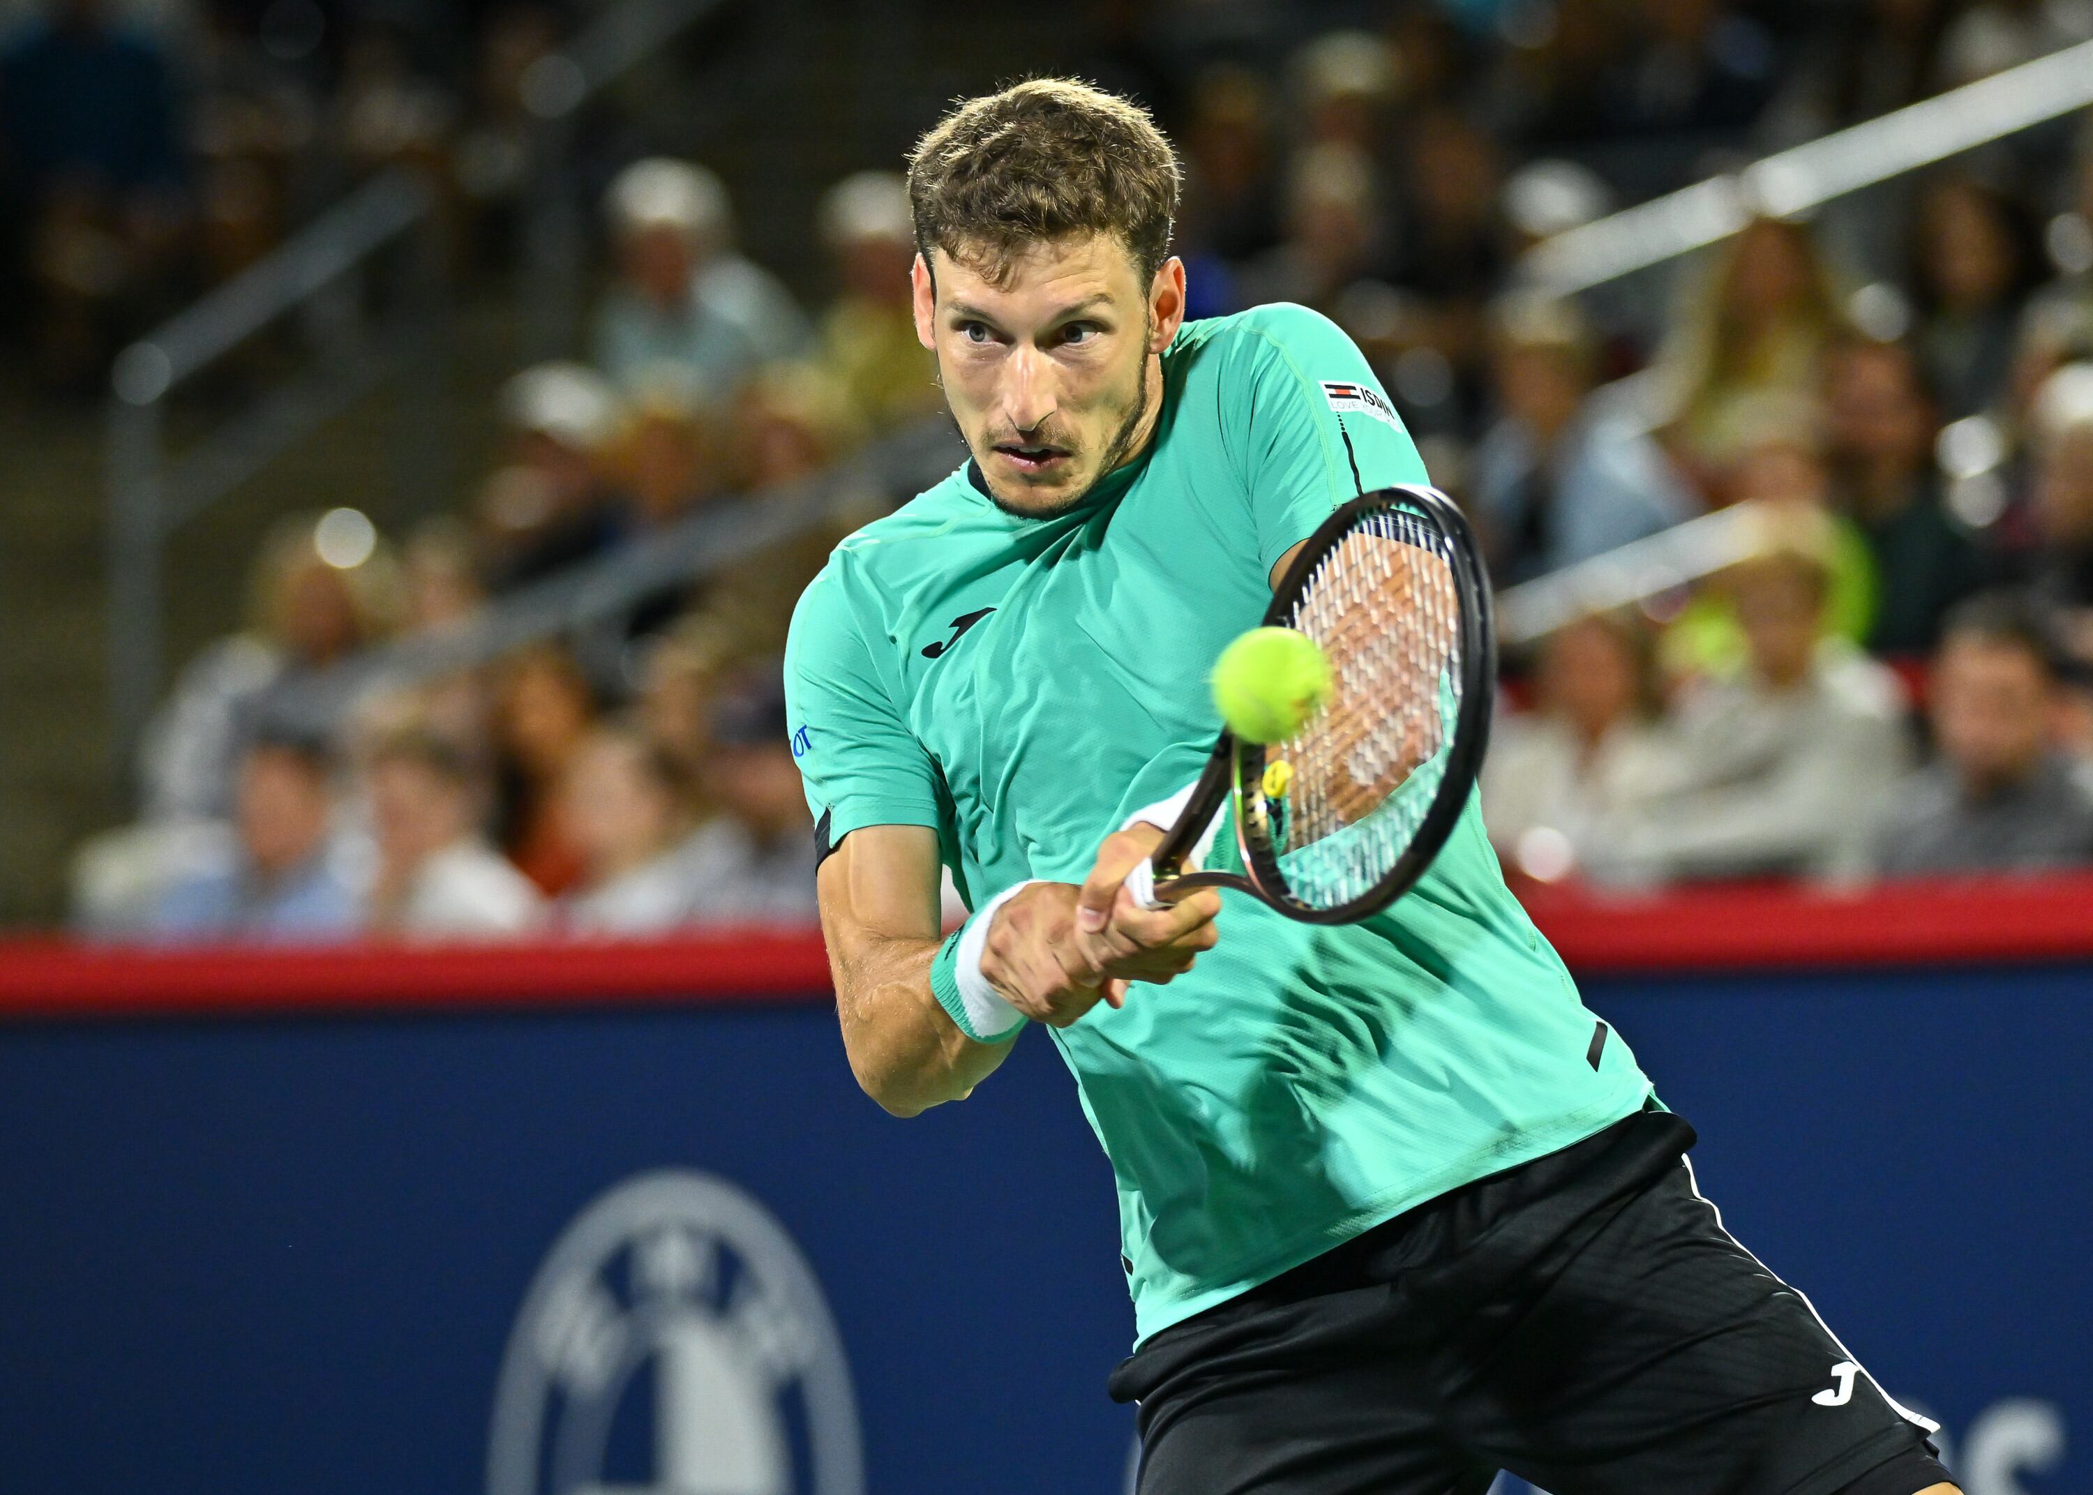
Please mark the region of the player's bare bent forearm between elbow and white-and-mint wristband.
POLYGON ((850 1070, 896 1116, 965 1099, 1011 1051, 1009 1043, 975 1043, 938 1005, 929 988, 936 955, 938 940, 869 936, 835 961, 850 1070))

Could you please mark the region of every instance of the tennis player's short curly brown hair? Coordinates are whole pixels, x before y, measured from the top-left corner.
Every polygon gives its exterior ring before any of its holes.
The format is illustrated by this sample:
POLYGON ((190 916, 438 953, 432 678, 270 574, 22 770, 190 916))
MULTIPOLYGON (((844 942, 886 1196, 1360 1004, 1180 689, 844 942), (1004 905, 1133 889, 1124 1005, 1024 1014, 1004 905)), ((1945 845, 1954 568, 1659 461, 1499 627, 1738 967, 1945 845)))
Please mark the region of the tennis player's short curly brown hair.
POLYGON ((1113 235, 1141 287, 1170 255, 1176 153, 1149 113, 1067 77, 969 98, 908 155, 917 249, 1000 281, 1028 245, 1113 235))

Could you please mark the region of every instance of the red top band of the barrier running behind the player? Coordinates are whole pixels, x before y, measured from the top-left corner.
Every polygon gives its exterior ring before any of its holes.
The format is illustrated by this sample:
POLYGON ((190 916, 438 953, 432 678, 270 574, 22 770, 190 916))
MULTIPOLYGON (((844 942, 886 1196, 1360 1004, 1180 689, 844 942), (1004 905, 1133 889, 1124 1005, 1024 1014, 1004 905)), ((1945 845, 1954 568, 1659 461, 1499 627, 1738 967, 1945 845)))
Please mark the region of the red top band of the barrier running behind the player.
MULTIPOLYGON (((1524 896, 1572 969, 1589 976, 2093 957, 2093 875, 1856 894, 1729 886, 1599 898, 1536 886, 1524 896)), ((419 949, 0 942, 0 1016, 13 1018, 808 1001, 827 990, 820 936, 802 930, 419 949)))

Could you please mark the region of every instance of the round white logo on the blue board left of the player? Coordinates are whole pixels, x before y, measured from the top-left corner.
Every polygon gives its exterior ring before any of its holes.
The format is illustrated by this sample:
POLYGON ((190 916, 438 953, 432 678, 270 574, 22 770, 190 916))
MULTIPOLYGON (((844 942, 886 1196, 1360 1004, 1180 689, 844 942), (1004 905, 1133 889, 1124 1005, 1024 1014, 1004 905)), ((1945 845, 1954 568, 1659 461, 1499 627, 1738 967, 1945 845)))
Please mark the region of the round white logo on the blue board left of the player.
POLYGON ((611 1491, 864 1493, 820 1286, 785 1227, 724 1179, 645 1173, 594 1200, 509 1336, 488 1495, 611 1491))

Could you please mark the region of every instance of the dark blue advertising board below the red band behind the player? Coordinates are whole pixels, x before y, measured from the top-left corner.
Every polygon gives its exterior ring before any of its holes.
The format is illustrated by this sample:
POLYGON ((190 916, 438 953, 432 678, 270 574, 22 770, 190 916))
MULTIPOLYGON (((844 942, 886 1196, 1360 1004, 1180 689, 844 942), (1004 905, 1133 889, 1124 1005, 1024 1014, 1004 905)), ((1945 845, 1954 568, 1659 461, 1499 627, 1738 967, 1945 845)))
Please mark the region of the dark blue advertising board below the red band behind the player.
MULTIPOLYGON (((1601 980, 1702 1187, 1970 1495, 2093 1489, 2093 972, 1601 980)), ((0 1026, 0 1489, 1124 1489, 1051 1045, 900 1122, 825 999, 0 1026)))

